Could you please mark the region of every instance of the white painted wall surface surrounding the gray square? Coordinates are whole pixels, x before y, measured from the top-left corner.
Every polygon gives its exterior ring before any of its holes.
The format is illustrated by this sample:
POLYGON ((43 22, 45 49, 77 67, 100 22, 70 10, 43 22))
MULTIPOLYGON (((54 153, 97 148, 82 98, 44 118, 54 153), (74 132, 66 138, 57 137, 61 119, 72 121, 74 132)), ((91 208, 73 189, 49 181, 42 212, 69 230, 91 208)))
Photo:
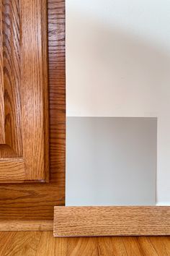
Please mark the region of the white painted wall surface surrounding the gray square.
POLYGON ((67 116, 158 117, 158 205, 170 205, 169 24, 169 0, 66 0, 67 116))

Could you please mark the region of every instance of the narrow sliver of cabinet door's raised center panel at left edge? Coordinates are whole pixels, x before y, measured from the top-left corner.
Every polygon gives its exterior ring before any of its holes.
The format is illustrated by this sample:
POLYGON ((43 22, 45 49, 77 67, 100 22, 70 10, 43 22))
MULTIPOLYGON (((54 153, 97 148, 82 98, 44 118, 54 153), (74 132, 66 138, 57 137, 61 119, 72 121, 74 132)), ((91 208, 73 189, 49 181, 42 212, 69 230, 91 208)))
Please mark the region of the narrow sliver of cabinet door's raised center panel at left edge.
POLYGON ((2 30, 2 0, 0 0, 0 144, 5 143, 4 132, 4 72, 3 72, 3 30, 2 30))

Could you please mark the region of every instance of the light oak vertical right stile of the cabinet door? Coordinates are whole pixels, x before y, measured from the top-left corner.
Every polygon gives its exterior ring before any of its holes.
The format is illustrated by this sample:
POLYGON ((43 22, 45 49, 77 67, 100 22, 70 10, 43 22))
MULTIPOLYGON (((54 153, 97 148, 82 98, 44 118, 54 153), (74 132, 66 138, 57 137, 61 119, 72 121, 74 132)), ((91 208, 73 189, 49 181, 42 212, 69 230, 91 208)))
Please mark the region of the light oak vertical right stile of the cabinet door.
POLYGON ((22 23, 22 127, 26 180, 45 180, 48 168, 47 4, 42 0, 20 1, 22 23), (42 5, 44 4, 43 8, 42 5), (42 43, 43 40, 43 43, 42 43), (47 93, 47 95, 44 95, 47 93), (45 111, 44 111, 45 110, 45 111), (46 166, 46 167, 45 167, 46 166))

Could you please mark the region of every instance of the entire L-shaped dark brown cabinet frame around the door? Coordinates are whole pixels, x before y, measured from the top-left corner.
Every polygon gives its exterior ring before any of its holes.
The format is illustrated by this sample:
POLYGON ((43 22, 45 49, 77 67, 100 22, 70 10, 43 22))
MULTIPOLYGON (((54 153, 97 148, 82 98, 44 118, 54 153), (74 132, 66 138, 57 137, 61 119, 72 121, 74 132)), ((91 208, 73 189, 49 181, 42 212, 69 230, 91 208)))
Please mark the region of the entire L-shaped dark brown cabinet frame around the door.
POLYGON ((49 184, 0 184, 0 220, 53 220, 65 203, 65 1, 48 0, 49 184))

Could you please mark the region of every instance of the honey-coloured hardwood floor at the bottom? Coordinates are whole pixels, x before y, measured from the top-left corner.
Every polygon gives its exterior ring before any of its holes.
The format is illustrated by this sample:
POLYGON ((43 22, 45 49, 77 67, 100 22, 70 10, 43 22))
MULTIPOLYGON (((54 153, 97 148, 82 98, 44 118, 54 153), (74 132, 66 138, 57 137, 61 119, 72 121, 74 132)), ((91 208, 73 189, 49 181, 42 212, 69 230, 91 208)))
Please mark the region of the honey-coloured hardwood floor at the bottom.
POLYGON ((0 255, 169 256, 170 236, 54 238, 52 231, 0 232, 0 255))

